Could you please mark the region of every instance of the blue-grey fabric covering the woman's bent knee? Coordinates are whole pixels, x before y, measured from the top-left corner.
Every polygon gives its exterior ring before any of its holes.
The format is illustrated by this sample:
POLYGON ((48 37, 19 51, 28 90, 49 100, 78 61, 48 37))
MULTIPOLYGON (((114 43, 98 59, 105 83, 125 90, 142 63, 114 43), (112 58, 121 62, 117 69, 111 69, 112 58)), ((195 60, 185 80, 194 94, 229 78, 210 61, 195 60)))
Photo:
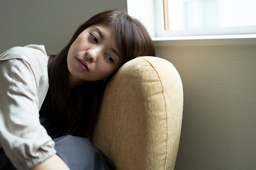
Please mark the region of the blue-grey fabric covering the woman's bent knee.
POLYGON ((111 161, 88 138, 71 135, 53 139, 54 148, 71 170, 115 169, 111 161))

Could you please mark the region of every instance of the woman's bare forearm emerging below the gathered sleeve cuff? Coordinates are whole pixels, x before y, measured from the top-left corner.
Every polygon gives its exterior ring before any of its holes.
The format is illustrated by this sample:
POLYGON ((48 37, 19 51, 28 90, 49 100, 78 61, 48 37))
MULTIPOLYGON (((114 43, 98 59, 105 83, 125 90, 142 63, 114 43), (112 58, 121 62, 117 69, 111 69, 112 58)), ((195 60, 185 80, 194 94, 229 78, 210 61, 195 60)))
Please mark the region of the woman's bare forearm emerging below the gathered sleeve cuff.
POLYGON ((31 170, 70 170, 65 162, 58 156, 53 155, 52 157, 46 159, 44 162, 38 164, 31 170))

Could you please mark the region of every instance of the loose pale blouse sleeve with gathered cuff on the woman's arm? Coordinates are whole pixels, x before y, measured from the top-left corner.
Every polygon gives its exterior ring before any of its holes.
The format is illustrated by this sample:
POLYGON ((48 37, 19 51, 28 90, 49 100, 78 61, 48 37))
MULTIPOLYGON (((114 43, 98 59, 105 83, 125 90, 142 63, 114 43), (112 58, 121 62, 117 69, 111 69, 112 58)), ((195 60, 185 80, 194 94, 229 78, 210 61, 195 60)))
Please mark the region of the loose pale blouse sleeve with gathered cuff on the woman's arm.
POLYGON ((30 169, 56 153, 39 121, 35 74, 23 59, 0 63, 0 141, 17 169, 30 169))

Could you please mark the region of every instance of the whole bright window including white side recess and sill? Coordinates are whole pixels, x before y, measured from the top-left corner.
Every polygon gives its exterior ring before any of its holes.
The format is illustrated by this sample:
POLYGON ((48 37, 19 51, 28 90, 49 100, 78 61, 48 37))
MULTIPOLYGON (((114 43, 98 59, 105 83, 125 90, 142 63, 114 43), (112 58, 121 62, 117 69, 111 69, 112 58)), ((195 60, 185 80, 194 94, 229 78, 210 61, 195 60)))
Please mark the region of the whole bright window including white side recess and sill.
POLYGON ((256 0, 127 0, 156 46, 256 44, 255 7, 256 0))

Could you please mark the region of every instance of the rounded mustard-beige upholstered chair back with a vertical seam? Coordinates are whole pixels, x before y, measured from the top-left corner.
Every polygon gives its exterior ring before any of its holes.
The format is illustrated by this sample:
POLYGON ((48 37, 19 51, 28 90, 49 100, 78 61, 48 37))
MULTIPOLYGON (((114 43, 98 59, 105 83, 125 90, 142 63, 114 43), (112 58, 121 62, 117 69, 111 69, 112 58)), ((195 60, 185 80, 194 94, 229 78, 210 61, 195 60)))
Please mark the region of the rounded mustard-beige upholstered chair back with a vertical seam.
POLYGON ((182 83, 172 63, 137 57, 108 83, 92 144, 118 170, 174 169, 182 111, 182 83))

